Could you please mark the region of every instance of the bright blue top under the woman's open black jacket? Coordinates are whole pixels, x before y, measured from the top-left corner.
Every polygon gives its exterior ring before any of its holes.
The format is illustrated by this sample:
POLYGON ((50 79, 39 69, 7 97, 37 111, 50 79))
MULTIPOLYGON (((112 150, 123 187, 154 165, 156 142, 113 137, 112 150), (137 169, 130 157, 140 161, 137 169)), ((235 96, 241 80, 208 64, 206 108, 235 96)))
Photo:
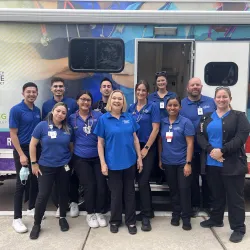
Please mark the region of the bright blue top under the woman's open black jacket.
MULTIPOLYGON (((214 111, 211 115, 212 121, 207 126, 208 142, 213 148, 222 148, 223 133, 222 133, 222 120, 225 118, 230 111, 224 114, 221 118, 214 111)), ((223 163, 214 160, 209 154, 207 154, 207 165, 223 167, 223 163)))

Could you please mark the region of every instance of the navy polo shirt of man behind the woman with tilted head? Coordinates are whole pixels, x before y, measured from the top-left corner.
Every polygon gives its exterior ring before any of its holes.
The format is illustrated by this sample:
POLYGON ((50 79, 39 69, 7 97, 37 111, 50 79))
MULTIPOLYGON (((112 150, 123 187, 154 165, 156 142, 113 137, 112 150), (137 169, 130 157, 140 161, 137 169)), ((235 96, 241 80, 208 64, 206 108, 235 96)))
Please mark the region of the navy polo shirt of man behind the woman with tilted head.
MULTIPOLYGON (((78 110, 78 105, 76 103, 76 100, 72 98, 64 97, 61 102, 65 103, 68 106, 67 118, 70 117, 71 114, 74 114, 78 110)), ((52 99, 43 103, 43 107, 42 107, 43 119, 48 115, 48 113, 52 110, 52 108, 54 107, 56 103, 57 101, 55 101, 54 96, 52 99)))

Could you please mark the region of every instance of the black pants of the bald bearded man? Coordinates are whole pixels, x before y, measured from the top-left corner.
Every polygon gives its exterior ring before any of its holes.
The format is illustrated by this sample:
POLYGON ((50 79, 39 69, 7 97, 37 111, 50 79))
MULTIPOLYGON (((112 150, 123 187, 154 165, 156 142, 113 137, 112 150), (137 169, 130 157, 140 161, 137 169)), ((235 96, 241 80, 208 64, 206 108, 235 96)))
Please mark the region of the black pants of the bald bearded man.
POLYGON ((212 197, 207 183, 207 176, 201 174, 200 153, 194 153, 192 159, 192 184, 191 184, 192 207, 210 208, 212 197), (202 186, 200 188, 200 176, 202 186))

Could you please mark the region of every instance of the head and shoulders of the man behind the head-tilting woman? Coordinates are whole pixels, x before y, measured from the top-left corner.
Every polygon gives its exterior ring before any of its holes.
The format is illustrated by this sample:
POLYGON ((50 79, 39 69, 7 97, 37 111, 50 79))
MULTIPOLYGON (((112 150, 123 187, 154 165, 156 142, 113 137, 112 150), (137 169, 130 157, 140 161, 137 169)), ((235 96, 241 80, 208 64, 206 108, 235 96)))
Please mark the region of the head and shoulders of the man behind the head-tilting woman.
POLYGON ((53 98, 44 102, 42 107, 42 118, 44 119, 48 113, 52 110, 57 102, 63 102, 68 106, 67 117, 75 113, 78 110, 77 103, 74 99, 64 97, 65 86, 64 80, 60 77, 53 77, 51 79, 51 92, 53 93, 53 98))

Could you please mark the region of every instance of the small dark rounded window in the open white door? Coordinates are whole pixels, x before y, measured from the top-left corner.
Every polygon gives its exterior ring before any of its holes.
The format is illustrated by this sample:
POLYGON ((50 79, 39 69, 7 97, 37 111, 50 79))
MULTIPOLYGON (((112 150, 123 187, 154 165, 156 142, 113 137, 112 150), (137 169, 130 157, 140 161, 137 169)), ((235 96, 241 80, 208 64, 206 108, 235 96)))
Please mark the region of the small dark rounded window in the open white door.
POLYGON ((234 62, 209 62, 204 79, 210 86, 233 86, 238 81, 238 66, 234 62))

